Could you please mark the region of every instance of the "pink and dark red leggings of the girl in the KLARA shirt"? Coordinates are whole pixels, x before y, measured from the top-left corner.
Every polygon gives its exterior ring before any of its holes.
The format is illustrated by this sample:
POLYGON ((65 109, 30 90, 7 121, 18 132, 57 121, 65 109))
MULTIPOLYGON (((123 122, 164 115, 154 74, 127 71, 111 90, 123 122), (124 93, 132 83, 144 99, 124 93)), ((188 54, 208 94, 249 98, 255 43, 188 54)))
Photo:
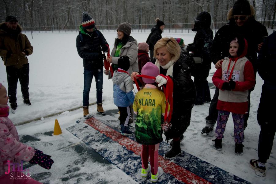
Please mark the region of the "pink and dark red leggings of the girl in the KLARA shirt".
POLYGON ((142 167, 144 169, 148 168, 149 157, 150 157, 150 167, 151 173, 157 174, 158 171, 158 148, 160 143, 154 145, 142 145, 142 167))

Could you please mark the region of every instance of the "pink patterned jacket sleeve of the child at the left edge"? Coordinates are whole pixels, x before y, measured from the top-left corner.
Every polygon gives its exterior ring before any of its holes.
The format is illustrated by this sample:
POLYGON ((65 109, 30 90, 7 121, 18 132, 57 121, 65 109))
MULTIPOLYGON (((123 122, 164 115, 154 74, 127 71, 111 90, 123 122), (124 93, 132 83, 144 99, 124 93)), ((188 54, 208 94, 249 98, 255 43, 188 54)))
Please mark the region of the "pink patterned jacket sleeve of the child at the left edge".
POLYGON ((0 155, 2 160, 29 161, 34 154, 34 148, 19 142, 17 130, 9 118, 0 117, 0 155))

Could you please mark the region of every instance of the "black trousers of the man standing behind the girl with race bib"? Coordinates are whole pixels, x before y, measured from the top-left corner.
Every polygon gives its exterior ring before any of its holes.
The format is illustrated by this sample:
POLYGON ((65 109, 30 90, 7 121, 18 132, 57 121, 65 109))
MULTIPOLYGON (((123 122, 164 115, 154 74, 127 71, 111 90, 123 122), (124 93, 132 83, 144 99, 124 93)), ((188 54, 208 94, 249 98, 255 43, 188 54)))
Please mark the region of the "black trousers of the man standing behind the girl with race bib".
MULTIPOLYGON (((248 99, 248 109, 247 109, 247 112, 248 113, 244 114, 244 127, 247 127, 247 120, 248 120, 248 117, 249 117, 250 94, 251 94, 251 91, 252 91, 251 89, 248 90, 248 96, 247 96, 247 99, 248 99)), ((213 97, 213 99, 211 100, 211 103, 210 103, 209 114, 205 118, 206 125, 209 126, 209 127, 211 127, 211 128, 214 128, 214 125, 217 122, 217 114, 218 114, 217 101, 218 101, 218 94, 219 94, 219 89, 216 87, 214 97, 213 97)))

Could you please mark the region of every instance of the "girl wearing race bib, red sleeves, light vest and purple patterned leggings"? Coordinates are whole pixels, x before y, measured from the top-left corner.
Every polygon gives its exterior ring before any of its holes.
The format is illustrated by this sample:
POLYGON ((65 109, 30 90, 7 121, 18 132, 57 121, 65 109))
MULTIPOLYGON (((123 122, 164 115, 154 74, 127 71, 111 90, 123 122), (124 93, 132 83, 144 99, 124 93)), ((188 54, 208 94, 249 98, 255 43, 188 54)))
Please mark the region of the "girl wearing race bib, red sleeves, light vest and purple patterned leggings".
POLYGON ((248 90, 255 85, 255 74, 252 63, 245 57, 247 41, 236 35, 230 41, 229 57, 222 60, 221 68, 217 69, 212 80, 219 88, 217 102, 218 116, 215 131, 215 145, 221 150, 225 126, 232 113, 234 122, 235 153, 243 154, 244 114, 248 113, 248 90))

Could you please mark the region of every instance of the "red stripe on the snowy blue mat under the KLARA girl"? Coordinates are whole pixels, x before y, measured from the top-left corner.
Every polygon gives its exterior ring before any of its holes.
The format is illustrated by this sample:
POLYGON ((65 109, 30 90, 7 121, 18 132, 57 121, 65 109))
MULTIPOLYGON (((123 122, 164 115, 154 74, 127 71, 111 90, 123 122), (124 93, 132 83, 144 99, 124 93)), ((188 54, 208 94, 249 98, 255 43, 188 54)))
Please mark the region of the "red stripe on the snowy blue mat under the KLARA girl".
MULTIPOLYGON (((129 139, 126 136, 122 136, 119 132, 113 130, 109 126, 103 124, 96 118, 92 117, 85 121, 86 124, 93 127, 97 131, 105 134, 112 140, 118 142, 122 146, 126 147, 128 150, 133 151, 136 155, 141 155, 142 145, 129 139)), ((173 175, 179 181, 185 182, 187 184, 194 183, 208 183, 205 179, 197 176, 196 174, 184 169, 183 167, 177 165, 176 163, 170 162, 170 160, 164 159, 161 155, 158 157, 158 164, 163 168, 163 171, 173 175)))

